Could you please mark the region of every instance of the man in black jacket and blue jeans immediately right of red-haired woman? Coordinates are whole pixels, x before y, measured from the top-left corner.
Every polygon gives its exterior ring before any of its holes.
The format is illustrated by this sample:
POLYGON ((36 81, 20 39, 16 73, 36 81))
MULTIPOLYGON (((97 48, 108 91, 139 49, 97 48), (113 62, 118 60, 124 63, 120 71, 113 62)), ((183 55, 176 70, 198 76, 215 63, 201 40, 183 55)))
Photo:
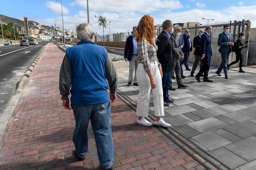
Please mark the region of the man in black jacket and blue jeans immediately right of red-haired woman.
POLYGON ((170 39, 170 32, 173 30, 173 22, 171 20, 165 20, 162 24, 163 31, 158 35, 157 39, 157 58, 162 64, 163 78, 163 101, 166 103, 172 103, 174 99, 169 98, 169 86, 171 83, 170 71, 173 64, 173 47, 170 39))

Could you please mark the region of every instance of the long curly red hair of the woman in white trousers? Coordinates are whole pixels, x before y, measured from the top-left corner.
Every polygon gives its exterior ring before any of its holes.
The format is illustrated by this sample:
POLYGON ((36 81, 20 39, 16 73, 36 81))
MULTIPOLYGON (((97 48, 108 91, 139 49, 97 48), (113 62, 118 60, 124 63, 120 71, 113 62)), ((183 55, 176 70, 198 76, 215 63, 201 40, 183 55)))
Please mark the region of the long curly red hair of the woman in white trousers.
POLYGON ((139 42, 143 38, 148 41, 151 45, 154 44, 153 37, 155 37, 154 32, 154 19, 150 15, 144 15, 138 24, 136 29, 136 40, 139 42))

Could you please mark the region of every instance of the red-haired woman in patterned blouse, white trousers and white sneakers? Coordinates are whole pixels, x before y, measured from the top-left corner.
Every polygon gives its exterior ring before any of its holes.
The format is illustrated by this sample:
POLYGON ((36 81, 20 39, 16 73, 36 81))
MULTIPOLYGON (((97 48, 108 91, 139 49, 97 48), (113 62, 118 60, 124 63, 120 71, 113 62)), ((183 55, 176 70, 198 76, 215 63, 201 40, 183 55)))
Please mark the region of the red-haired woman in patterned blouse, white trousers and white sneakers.
POLYGON ((163 127, 170 127, 161 116, 163 111, 163 89, 162 89, 162 67, 157 59, 157 45, 154 37, 154 19, 150 15, 144 15, 138 24, 136 32, 138 68, 137 80, 139 83, 139 98, 136 115, 137 123, 144 126, 151 126, 153 123, 144 117, 148 116, 150 90, 152 88, 154 98, 155 124, 163 127))

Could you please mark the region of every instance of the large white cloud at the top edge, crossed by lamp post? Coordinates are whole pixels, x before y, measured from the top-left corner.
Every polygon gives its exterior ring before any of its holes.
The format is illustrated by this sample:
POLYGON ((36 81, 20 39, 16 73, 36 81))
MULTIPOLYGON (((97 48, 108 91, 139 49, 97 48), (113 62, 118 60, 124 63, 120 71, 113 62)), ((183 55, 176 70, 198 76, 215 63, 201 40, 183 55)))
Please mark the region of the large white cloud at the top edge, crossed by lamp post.
MULTIPOLYGON (((87 0, 75 0, 71 5, 79 5, 87 9, 87 0)), ((90 0, 89 11, 105 12, 143 12, 151 13, 166 9, 182 8, 179 0, 90 0)))

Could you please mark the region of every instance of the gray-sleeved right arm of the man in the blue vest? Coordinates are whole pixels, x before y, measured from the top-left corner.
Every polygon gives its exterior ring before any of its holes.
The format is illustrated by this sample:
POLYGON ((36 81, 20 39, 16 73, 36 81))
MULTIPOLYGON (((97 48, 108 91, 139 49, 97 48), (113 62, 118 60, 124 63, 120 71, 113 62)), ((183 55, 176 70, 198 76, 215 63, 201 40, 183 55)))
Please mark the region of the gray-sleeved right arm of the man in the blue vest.
POLYGON ((113 103, 116 100, 118 78, 117 78, 116 68, 114 67, 112 59, 108 55, 107 50, 106 50, 106 61, 105 61, 105 74, 106 74, 106 79, 108 80, 108 83, 109 83, 110 100, 111 100, 111 103, 113 103))

